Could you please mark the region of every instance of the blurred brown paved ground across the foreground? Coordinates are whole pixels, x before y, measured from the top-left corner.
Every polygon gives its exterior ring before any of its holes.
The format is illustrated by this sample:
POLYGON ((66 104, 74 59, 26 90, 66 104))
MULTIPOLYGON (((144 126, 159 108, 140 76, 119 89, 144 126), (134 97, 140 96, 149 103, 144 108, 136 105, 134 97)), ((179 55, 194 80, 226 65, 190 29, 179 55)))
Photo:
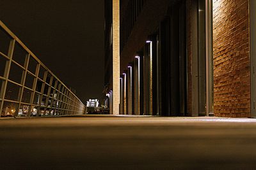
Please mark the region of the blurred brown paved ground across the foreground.
POLYGON ((0 119, 0 169, 256 169, 256 119, 0 119))

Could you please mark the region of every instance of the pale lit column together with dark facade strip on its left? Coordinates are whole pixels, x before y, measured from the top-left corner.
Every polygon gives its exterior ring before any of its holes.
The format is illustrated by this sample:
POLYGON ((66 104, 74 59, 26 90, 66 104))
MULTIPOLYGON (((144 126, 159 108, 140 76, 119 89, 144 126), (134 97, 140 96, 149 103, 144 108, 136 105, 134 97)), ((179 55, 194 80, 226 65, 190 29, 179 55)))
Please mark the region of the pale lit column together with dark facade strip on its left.
POLYGON ((109 113, 118 115, 120 110, 120 2, 105 0, 105 87, 109 113))

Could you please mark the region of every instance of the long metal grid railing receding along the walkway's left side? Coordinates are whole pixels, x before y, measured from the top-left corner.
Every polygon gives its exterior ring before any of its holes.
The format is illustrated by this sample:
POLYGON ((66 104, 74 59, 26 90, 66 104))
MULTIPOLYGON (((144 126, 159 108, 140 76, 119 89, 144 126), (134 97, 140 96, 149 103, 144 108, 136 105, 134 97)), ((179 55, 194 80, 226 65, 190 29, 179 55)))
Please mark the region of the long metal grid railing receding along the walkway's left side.
POLYGON ((85 106, 0 21, 0 117, 77 115, 85 106))

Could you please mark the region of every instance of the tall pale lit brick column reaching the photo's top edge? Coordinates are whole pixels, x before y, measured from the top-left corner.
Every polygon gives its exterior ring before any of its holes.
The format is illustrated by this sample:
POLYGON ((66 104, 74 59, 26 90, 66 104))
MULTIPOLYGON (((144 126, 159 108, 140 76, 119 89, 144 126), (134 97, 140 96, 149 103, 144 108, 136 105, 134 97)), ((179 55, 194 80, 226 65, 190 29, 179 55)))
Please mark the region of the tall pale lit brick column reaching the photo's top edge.
POLYGON ((113 110, 112 114, 119 115, 120 104, 120 4, 113 0, 113 110))

